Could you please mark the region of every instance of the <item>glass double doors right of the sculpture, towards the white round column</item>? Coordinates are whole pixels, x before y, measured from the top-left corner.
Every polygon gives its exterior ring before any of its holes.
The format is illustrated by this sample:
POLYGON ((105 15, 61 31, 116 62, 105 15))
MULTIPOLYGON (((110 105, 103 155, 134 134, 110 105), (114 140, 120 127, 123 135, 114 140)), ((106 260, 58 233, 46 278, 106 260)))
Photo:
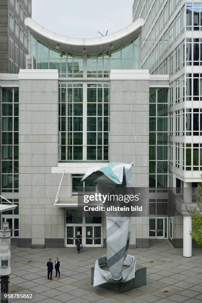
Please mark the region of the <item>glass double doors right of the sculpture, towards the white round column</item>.
POLYGON ((167 238, 167 218, 150 218, 149 229, 150 238, 167 238))

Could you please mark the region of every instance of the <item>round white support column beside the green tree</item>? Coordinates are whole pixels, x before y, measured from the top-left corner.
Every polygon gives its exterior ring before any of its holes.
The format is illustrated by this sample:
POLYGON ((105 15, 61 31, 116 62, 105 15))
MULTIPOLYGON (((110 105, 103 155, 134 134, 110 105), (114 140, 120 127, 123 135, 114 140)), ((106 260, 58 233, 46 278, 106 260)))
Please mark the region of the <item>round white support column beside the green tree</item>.
MULTIPOLYGON (((192 202, 192 183, 184 182, 184 202, 192 202)), ((191 257, 192 256, 192 237, 190 232, 192 230, 192 217, 184 216, 183 217, 183 256, 191 257)))

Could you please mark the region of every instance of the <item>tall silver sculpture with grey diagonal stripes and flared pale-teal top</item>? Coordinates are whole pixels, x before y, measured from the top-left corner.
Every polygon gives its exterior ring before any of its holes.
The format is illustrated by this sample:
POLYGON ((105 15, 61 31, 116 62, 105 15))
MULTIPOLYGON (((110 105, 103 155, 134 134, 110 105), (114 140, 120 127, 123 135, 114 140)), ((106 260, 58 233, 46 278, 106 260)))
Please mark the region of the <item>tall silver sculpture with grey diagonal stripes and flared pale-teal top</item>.
MULTIPOLYGON (((129 186, 131 178, 131 164, 109 163, 104 167, 89 168, 82 181, 95 182, 100 192, 113 190, 117 185, 129 186)), ((116 216, 111 211, 106 214, 106 246, 107 254, 96 261, 94 273, 94 286, 107 282, 127 282, 135 277, 137 270, 136 259, 128 255, 130 242, 130 216, 116 216), (107 265, 108 270, 103 270, 101 265, 107 265), (128 266, 123 271, 123 265, 128 266)))

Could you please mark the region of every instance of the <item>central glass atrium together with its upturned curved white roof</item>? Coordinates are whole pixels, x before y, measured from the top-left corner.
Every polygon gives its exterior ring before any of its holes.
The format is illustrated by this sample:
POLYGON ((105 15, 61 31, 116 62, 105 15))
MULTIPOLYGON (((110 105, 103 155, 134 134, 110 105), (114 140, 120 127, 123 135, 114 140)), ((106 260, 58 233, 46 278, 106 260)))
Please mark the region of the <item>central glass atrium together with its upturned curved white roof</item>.
POLYGON ((140 68, 144 21, 95 39, 60 36, 30 18, 25 23, 34 68, 59 73, 59 161, 108 161, 110 70, 140 68))

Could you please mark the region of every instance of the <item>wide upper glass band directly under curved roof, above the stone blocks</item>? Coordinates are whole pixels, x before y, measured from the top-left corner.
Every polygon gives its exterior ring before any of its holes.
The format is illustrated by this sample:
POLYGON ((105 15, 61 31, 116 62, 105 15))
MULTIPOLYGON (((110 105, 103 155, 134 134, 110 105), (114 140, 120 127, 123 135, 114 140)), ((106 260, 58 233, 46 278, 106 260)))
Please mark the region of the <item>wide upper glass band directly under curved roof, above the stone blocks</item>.
POLYGON ((35 68, 58 69, 61 78, 108 78, 111 69, 140 68, 140 38, 114 50, 75 54, 52 49, 31 36, 30 54, 35 68))

